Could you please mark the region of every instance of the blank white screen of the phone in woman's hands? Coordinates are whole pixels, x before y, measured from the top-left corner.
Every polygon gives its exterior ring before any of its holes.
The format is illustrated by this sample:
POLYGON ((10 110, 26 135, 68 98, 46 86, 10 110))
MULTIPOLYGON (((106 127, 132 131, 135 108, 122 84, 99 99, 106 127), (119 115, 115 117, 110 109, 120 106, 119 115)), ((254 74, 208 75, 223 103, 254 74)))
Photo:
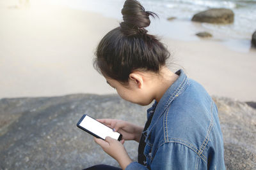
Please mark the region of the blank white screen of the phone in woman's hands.
POLYGON ((111 138, 117 140, 120 136, 120 133, 113 132, 111 128, 107 127, 104 124, 101 124, 100 122, 91 117, 88 117, 87 115, 84 117, 79 125, 84 129, 93 132, 93 134, 96 134, 102 139, 106 139, 107 136, 110 136, 111 138))

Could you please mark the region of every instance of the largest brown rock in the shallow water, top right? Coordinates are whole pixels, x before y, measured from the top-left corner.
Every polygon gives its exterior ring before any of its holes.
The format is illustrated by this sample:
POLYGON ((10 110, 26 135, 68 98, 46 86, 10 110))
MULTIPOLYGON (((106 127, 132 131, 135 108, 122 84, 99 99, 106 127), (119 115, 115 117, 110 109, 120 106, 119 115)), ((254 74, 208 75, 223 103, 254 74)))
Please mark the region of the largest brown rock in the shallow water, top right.
POLYGON ((192 20, 212 24, 231 24, 234 22, 234 12, 225 8, 212 8, 210 10, 196 13, 192 20))

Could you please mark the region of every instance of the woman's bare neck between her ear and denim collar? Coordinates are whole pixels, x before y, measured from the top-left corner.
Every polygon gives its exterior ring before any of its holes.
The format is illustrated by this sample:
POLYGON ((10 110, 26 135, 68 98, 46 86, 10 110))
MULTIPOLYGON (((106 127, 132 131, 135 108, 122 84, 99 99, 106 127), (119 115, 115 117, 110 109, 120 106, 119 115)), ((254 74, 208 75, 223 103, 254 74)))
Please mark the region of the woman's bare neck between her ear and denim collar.
POLYGON ((163 97, 166 90, 179 78, 179 76, 167 67, 163 67, 160 71, 160 76, 157 76, 154 80, 154 99, 159 103, 160 99, 163 97))

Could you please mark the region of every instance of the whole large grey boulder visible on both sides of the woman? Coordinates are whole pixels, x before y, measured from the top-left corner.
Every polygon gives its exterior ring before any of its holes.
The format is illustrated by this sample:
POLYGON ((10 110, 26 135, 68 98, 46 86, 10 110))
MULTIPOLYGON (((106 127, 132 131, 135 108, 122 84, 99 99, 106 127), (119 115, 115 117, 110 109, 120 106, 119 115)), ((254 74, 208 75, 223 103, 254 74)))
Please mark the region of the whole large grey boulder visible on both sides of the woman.
MULTIPOLYGON (((225 141, 227 169, 256 168, 256 110, 246 103, 214 97, 225 141)), ((118 96, 75 94, 0 100, 0 169, 83 169, 117 162, 76 127, 83 113, 144 125, 147 107, 118 96)), ((136 160, 138 143, 125 142, 136 160)))

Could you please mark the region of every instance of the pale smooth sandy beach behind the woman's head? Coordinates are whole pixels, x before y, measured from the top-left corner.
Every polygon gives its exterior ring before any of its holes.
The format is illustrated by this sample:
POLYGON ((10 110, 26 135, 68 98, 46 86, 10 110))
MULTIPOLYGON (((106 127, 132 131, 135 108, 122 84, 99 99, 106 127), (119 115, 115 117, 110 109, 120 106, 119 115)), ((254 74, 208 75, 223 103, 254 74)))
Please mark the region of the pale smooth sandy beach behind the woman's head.
MULTIPOLYGON (((118 22, 89 11, 2 1, 0 98, 115 93, 92 63, 97 43, 118 22)), ((236 52, 211 39, 163 42, 172 52, 172 71, 184 69, 211 95, 256 101, 255 50, 236 52)))

